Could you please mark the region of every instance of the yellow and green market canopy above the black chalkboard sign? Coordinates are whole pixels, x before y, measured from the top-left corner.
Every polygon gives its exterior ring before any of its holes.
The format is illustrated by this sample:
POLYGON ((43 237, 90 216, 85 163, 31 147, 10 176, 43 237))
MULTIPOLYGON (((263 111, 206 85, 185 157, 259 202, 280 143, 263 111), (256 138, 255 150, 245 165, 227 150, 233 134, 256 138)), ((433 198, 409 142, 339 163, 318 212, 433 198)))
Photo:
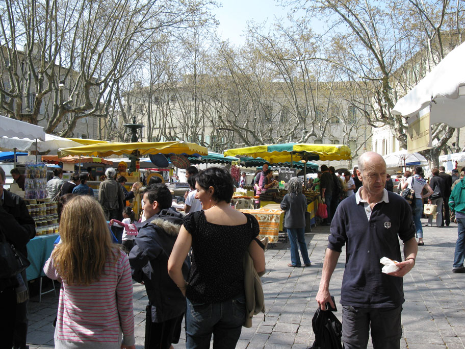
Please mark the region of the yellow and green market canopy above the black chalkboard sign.
POLYGON ((271 163, 286 162, 292 154, 294 161, 306 160, 350 160, 350 148, 342 144, 284 143, 256 145, 228 149, 225 156, 249 156, 263 158, 271 163))

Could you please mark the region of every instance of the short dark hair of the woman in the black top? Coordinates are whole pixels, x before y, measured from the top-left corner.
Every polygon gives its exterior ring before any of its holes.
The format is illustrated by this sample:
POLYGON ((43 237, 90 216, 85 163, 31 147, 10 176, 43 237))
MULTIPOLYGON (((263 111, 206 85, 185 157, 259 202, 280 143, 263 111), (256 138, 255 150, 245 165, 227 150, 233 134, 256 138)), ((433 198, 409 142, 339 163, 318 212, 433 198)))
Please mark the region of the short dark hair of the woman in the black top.
POLYGON ((234 182, 227 170, 220 167, 210 167, 200 171, 196 180, 198 185, 205 190, 210 187, 215 189, 212 195, 214 200, 226 203, 231 201, 234 193, 234 182))

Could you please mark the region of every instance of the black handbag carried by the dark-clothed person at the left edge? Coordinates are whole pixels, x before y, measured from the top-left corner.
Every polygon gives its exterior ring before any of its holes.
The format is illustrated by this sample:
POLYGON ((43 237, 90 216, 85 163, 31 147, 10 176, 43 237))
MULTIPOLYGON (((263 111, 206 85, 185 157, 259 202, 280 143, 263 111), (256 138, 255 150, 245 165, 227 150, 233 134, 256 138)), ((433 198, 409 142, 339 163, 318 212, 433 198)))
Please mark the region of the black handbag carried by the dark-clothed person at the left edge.
POLYGON ((0 279, 8 279, 24 271, 31 262, 25 258, 15 246, 6 241, 5 235, 0 233, 0 279))

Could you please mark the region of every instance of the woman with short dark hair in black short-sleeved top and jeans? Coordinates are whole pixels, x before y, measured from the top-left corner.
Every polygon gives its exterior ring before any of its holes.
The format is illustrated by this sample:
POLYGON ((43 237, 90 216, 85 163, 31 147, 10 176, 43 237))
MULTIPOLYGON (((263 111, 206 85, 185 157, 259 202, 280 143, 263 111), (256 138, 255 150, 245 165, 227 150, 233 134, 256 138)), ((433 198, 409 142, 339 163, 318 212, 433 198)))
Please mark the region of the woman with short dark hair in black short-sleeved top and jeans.
POLYGON ((265 270, 259 223, 229 205, 233 178, 211 167, 196 178, 203 211, 187 215, 168 261, 168 273, 187 297, 186 348, 234 348, 246 320, 243 258, 247 251, 257 272, 265 270), (187 281, 181 267, 192 247, 187 281))

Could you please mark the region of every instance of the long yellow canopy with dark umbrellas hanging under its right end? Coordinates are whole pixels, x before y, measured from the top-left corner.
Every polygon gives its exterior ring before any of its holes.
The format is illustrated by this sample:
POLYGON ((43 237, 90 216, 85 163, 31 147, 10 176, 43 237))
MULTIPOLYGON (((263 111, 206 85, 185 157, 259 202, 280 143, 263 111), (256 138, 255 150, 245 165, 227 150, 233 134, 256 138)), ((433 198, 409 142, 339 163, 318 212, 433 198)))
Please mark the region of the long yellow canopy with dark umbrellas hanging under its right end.
POLYGON ((185 156, 205 156, 208 149, 204 146, 184 141, 174 142, 137 142, 137 143, 96 143, 72 148, 62 148, 58 151, 59 157, 66 155, 86 155, 107 157, 110 155, 130 155, 135 150, 140 156, 150 154, 177 154, 185 156))

